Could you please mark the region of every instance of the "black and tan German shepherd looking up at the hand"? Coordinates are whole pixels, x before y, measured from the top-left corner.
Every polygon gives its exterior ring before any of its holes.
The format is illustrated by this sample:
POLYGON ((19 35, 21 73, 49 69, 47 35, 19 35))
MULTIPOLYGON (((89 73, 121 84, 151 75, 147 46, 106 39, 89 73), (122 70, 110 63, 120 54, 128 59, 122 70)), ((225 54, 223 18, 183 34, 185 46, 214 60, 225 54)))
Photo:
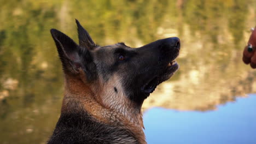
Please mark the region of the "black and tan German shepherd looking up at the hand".
POLYGON ((178 38, 132 49, 100 46, 76 20, 79 45, 51 29, 65 73, 61 115, 48 144, 147 143, 141 106, 178 69, 178 38))

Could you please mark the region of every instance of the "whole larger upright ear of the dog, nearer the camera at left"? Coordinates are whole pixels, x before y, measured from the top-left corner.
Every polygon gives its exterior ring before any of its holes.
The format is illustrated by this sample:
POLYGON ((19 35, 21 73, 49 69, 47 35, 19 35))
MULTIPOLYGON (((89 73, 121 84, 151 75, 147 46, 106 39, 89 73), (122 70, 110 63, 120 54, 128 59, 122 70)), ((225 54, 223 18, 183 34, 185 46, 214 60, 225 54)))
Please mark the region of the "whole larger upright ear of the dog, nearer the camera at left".
POLYGON ((66 34, 57 29, 51 29, 50 32, 55 41, 65 73, 78 74, 79 70, 82 69, 88 79, 94 78, 96 65, 93 62, 90 51, 80 47, 66 34))

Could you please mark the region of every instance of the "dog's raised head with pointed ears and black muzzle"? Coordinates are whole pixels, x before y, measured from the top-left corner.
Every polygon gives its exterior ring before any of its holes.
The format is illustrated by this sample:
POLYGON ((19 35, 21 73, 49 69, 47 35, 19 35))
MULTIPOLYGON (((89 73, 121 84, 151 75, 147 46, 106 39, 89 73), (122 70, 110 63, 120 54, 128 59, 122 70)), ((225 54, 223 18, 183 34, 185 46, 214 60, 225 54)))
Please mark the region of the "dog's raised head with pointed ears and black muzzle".
POLYGON ((94 83, 92 89, 104 93, 100 96, 102 101, 116 105, 115 99, 125 97, 123 99, 141 105, 156 86, 168 80, 179 67, 174 61, 180 49, 176 37, 156 40, 136 49, 124 43, 99 46, 76 22, 79 45, 56 29, 51 29, 51 35, 65 74, 80 75, 84 83, 94 83))

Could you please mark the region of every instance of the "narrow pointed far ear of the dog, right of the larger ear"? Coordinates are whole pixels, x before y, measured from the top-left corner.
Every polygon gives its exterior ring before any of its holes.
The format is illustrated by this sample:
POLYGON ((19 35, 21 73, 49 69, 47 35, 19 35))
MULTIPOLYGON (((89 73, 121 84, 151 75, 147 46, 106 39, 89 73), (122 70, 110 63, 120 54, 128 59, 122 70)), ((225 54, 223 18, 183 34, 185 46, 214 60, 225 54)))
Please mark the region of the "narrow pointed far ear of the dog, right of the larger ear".
POLYGON ((79 45, 86 47, 86 49, 93 50, 96 47, 96 44, 91 39, 89 33, 80 25, 77 19, 75 19, 75 22, 77 23, 79 45))

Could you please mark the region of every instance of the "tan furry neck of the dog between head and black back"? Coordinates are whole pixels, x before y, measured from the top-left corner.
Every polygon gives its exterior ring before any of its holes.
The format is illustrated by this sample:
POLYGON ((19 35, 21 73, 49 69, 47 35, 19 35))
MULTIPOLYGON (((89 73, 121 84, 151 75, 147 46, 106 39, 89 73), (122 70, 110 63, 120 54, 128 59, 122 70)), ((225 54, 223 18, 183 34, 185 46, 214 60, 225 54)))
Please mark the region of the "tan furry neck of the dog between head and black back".
POLYGON ((62 113, 72 113, 74 107, 69 102, 78 101, 92 117, 130 130, 139 143, 146 143, 141 107, 136 107, 132 101, 127 100, 118 86, 119 93, 112 92, 114 89, 110 87, 111 85, 99 85, 98 82, 87 84, 80 76, 66 75, 62 113))

